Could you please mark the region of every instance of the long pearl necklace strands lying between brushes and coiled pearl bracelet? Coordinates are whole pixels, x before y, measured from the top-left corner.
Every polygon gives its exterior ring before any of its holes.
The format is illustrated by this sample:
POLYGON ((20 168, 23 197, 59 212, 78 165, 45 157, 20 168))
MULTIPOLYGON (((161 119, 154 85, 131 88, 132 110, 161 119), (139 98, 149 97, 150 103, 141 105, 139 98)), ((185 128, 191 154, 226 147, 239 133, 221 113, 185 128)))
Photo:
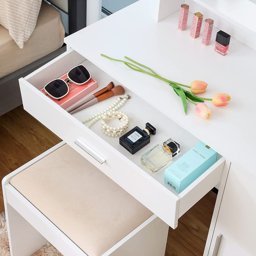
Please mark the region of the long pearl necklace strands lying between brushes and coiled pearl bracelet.
MULTIPOLYGON (((80 121, 82 124, 89 122, 86 127, 90 128, 91 125, 93 125, 96 121, 98 121, 99 119, 101 119, 103 116, 106 116, 107 114, 110 116, 111 114, 116 114, 116 110, 121 108, 121 106, 123 106, 125 104, 125 102, 127 101, 127 99, 131 99, 131 96, 129 94, 127 94, 124 98, 117 98, 116 101, 113 102, 113 104, 111 104, 108 108, 102 110, 101 112, 98 112, 90 117, 87 117, 85 119, 83 119, 82 121, 80 121), (113 113, 115 112, 115 113, 113 113)), ((118 112, 118 111, 117 111, 118 112)), ((119 114, 119 113, 118 113, 119 114)), ((118 115, 117 114, 117 115, 118 115)))

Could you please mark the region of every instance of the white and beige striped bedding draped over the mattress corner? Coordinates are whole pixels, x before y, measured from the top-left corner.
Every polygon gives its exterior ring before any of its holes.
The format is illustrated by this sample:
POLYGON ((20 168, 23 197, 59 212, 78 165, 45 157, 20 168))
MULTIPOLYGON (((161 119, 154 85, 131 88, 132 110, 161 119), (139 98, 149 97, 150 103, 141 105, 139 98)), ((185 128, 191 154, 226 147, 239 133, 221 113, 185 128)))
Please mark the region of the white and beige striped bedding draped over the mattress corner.
POLYGON ((23 48, 37 23, 42 0, 0 0, 0 24, 9 30, 19 48, 23 48))

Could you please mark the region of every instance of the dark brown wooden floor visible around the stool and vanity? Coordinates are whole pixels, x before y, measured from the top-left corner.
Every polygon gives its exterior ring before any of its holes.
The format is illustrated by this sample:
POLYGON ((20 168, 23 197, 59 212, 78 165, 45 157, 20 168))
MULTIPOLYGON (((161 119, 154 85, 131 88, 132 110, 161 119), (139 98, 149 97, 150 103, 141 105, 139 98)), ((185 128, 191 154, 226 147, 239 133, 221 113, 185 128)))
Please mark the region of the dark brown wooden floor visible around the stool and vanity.
MULTIPOLYGON (((22 106, 0 116, 0 178, 61 141, 22 106)), ((202 256, 216 195, 209 192, 169 228, 165 256, 202 256)), ((4 211, 0 190, 0 212, 4 211)))

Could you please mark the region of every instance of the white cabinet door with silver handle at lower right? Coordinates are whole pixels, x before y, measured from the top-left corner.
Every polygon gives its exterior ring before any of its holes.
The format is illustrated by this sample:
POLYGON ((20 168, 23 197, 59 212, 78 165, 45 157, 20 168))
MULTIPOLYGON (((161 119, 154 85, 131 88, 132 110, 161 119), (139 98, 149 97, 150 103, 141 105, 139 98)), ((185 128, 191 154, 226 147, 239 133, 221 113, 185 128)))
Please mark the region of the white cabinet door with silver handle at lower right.
POLYGON ((256 176, 231 163, 209 256, 256 255, 256 176), (216 238, 222 234, 218 253, 216 238))

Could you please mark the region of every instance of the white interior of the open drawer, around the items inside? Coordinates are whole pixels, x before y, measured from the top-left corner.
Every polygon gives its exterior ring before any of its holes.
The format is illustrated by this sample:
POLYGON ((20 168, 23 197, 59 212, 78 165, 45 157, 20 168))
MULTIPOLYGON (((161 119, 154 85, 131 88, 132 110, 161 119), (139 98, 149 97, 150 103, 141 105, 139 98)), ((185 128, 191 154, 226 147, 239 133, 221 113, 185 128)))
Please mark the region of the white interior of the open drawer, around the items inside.
MULTIPOLYGON (((83 64, 90 71, 91 77, 98 82, 97 90, 102 89, 111 81, 113 81, 115 85, 121 84, 120 82, 118 82, 117 80, 114 80, 110 75, 103 72, 100 68, 95 66, 90 61, 86 60, 84 57, 82 57, 80 54, 76 53, 75 51, 71 51, 70 53, 62 57, 60 60, 57 60, 53 63, 49 63, 49 65, 42 68, 41 70, 39 69, 38 71, 33 72, 32 74, 27 76, 25 79, 30 84, 32 84, 35 88, 37 88, 38 90, 41 90, 46 83, 48 83, 53 79, 63 76, 65 73, 69 71, 69 69, 71 69, 72 67, 75 67, 78 64, 83 64)), ((133 72, 134 71, 131 70, 131 76, 133 72)), ((136 81, 134 81, 134 83, 136 84, 136 81)), ((138 86, 140 85, 138 84, 138 86)), ((166 86, 168 85, 166 84, 166 86)), ((172 89, 170 88, 170 90, 172 89)), ((95 93, 95 91, 93 91, 89 95, 95 93)), ((191 133, 186 131, 184 128, 180 127, 180 125, 178 125, 174 121, 167 118, 163 113, 155 109, 153 105, 147 103, 138 95, 136 95, 136 91, 130 91, 127 88, 125 88, 125 95, 126 94, 129 94, 131 96, 131 99, 128 99, 127 102, 118 110, 127 113, 129 117, 130 124, 128 127, 128 131, 135 126, 138 126, 141 129, 144 129, 145 124, 147 122, 151 123, 157 129, 157 132, 156 132, 156 135, 150 135, 151 137, 150 143, 147 146, 143 147, 141 150, 139 150, 137 153, 132 155, 123 146, 119 144, 119 138, 109 138, 108 136, 102 133, 100 120, 98 120, 96 123, 94 123, 90 127, 91 131, 96 133, 100 138, 105 140, 113 148, 115 148, 117 151, 119 151, 121 154, 123 154, 133 163, 135 163, 147 175, 153 177, 157 182, 159 182, 160 187, 163 186, 167 188, 170 192, 172 192, 174 195, 180 198, 180 194, 178 194, 176 191, 174 191, 164 182, 164 170, 169 165, 164 166, 157 173, 151 173, 150 170, 148 170, 146 167, 144 167, 140 163, 140 156, 144 154, 146 151, 150 150, 150 148, 154 147, 156 144, 162 144, 167 139, 172 138, 173 140, 177 141, 180 144, 180 149, 181 149, 181 153, 173 157, 173 162, 174 162, 178 158, 180 158, 182 155, 184 155, 188 150, 190 150, 193 146, 199 143, 199 139, 197 139, 191 133)), ((155 84, 155 94, 156 94, 156 97, 161 97, 161 95, 158 95, 157 81, 155 84)), ((46 97, 46 96, 42 94, 42 97, 46 97)), ((86 97, 88 97, 88 95, 86 97)), ((90 106, 89 108, 83 109, 73 114, 72 116, 77 120, 81 121, 107 108, 109 105, 111 105, 115 101, 117 97, 119 96, 113 96, 112 98, 101 101, 93 106, 90 106)), ((123 97, 123 95, 121 95, 120 97, 123 97)), ((177 106, 177 107, 180 107, 180 106, 177 106)), ((60 106, 56 104, 56 108, 60 108, 60 106)), ((173 108, 173 111, 175 111, 176 107, 172 105, 172 102, 166 102, 166 108, 173 108)), ((193 111, 193 110, 188 110, 188 111, 193 111)), ((86 127, 86 124, 87 123, 85 123, 84 128, 89 129, 86 127)), ((116 126, 118 122, 117 120, 113 120, 111 121, 110 124, 116 126)), ((218 160, 221 158, 222 156, 218 154, 218 160)), ((183 194, 184 193, 182 193, 181 195, 183 194)))

